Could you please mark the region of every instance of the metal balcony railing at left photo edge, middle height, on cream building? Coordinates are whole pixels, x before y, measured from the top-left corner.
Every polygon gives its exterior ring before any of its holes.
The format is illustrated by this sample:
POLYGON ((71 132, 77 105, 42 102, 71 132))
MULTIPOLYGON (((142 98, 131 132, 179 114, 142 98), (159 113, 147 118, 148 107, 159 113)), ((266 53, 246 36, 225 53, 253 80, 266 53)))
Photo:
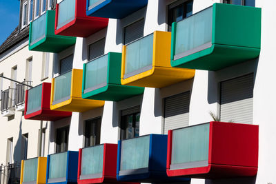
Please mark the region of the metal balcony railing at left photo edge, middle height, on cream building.
POLYGON ((8 88, 1 91, 1 112, 14 108, 15 89, 8 88))

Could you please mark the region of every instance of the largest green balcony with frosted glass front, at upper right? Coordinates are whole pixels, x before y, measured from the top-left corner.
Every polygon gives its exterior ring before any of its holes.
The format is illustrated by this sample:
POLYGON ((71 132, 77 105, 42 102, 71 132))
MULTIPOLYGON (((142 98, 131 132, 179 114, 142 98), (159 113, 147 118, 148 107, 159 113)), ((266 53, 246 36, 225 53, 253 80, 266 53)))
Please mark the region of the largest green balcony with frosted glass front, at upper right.
POLYGON ((214 3, 172 23, 172 67, 219 70, 257 58, 261 14, 261 8, 214 3))

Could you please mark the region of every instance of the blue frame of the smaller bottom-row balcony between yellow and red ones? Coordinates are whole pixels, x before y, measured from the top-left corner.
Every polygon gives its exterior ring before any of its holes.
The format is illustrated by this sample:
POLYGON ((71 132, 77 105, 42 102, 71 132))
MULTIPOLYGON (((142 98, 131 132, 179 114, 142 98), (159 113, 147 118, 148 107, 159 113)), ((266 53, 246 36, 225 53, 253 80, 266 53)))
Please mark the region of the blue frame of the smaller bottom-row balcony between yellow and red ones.
MULTIPOLYGON (((50 154, 47 156, 47 172, 46 172, 46 183, 48 183, 49 178, 49 164, 50 164, 50 154)), ((66 165, 66 181, 51 183, 51 184, 73 184, 77 183, 77 172, 78 172, 78 161, 79 152, 68 151, 67 152, 67 165, 66 165)))

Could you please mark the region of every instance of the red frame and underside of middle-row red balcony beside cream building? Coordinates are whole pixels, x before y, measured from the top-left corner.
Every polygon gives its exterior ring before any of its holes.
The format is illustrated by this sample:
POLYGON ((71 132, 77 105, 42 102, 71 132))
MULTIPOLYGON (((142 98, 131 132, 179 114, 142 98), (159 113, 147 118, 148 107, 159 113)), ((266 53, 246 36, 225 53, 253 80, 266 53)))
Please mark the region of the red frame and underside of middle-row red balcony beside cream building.
POLYGON ((57 121, 71 116, 72 112, 50 110, 51 83, 42 83, 41 110, 26 114, 28 108, 28 90, 26 90, 25 119, 57 121))

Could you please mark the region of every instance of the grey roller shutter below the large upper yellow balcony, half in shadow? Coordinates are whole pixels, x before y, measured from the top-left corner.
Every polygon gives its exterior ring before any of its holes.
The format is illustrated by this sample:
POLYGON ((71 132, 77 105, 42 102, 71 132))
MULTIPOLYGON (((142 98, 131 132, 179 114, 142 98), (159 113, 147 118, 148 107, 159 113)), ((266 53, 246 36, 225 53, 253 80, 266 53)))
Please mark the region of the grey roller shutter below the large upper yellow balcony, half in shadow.
POLYGON ((164 134, 168 130, 189 125, 190 92, 184 92, 165 99, 164 134))

